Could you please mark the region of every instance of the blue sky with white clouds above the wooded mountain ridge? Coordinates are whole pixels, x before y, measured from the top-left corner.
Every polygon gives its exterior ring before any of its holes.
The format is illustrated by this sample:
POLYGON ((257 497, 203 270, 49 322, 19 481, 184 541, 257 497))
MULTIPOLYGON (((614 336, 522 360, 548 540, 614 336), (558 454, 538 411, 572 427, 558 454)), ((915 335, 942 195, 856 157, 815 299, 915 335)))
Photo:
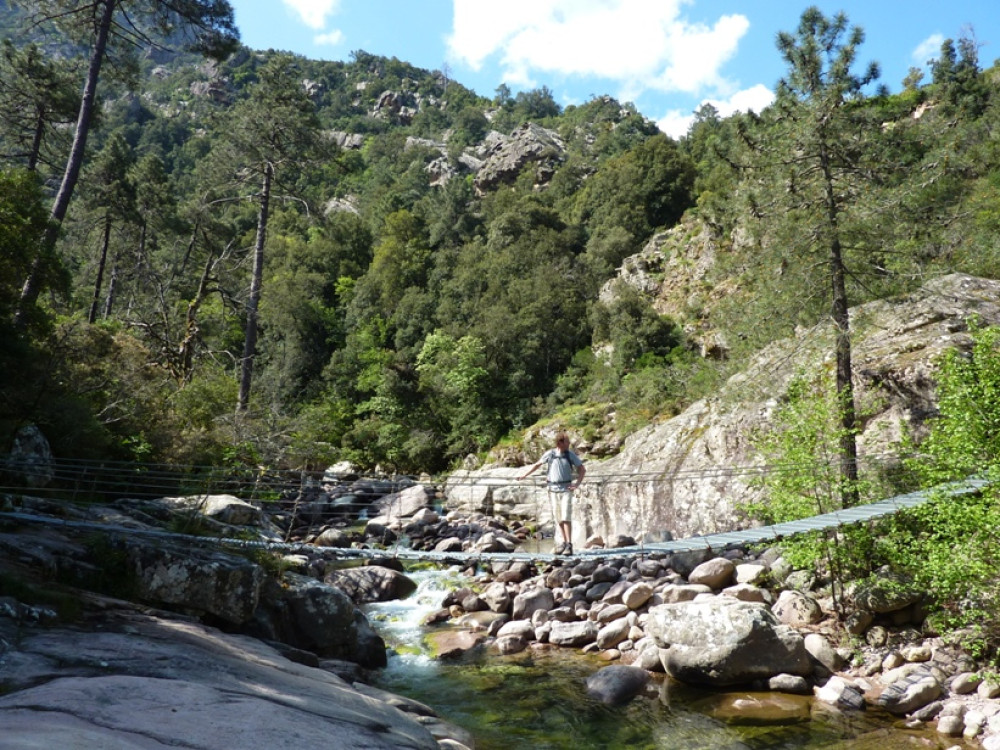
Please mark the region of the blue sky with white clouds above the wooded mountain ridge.
MULTIPOLYGON (((243 43, 315 60, 351 52, 445 71, 482 96, 547 87, 563 107, 609 94, 673 137, 703 103, 760 111, 786 71, 775 47, 807 0, 230 0, 243 43)), ((878 62, 899 91, 945 39, 1000 58, 998 0, 814 0, 865 31, 856 71, 878 62)))

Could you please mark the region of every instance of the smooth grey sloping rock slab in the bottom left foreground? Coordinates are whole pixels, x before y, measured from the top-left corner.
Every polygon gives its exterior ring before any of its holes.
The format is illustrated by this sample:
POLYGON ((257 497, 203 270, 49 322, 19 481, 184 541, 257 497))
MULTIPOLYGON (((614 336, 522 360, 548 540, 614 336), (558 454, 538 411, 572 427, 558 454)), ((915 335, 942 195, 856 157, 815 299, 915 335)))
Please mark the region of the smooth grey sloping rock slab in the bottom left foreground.
POLYGON ((425 726, 426 706, 407 712, 405 701, 290 661, 252 638, 120 602, 99 606, 99 629, 90 632, 25 628, 0 613, 0 745, 445 746, 425 726), (8 637, 15 627, 16 641, 8 637))

